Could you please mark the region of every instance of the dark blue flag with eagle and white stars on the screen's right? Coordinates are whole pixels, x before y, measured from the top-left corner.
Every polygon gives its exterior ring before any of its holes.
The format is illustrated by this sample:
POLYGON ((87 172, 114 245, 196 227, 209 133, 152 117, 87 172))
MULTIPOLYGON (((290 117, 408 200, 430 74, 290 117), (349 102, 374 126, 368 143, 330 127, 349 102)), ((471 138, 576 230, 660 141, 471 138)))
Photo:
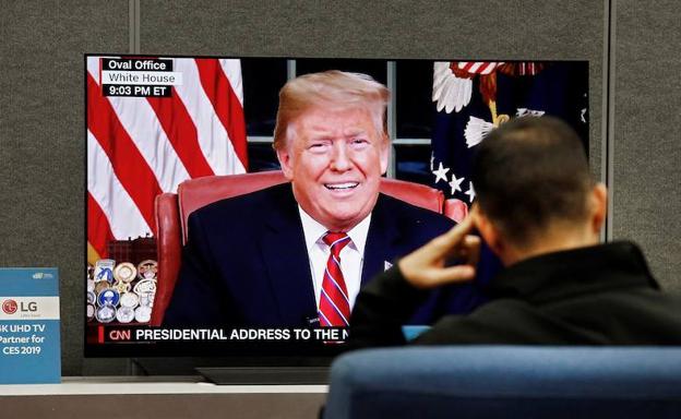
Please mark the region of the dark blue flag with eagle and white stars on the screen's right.
MULTIPOLYGON (((475 185, 470 165, 485 136, 521 116, 552 115, 569 122, 588 144, 588 62, 435 62, 433 65, 432 157, 433 185, 447 199, 471 205, 475 185)), ((518 196, 522 200, 522 196, 518 196)), ((477 286, 501 270, 499 260, 483 246, 477 286)), ((465 289, 454 294, 480 301, 465 289)), ((452 310, 450 310, 452 311, 452 310)))

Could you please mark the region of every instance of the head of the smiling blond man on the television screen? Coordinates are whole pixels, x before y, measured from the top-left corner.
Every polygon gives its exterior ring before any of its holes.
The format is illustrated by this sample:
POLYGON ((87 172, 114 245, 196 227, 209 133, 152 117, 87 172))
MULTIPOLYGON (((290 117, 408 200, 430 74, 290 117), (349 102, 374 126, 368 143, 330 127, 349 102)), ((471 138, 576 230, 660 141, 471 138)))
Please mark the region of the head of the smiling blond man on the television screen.
POLYGON ((279 92, 274 147, 302 210, 330 230, 347 231, 373 210, 390 144, 390 93, 373 79, 327 71, 279 92))

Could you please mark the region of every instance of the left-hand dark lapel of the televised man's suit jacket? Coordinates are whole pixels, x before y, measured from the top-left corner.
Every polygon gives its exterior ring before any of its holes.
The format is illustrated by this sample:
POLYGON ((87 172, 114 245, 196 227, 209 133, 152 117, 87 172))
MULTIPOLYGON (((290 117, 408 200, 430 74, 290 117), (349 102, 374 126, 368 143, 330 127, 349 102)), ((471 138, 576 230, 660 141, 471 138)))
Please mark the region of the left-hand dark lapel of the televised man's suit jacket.
POLYGON ((264 222, 262 256, 280 322, 304 325, 306 319, 316 316, 310 261, 290 184, 279 191, 264 222))

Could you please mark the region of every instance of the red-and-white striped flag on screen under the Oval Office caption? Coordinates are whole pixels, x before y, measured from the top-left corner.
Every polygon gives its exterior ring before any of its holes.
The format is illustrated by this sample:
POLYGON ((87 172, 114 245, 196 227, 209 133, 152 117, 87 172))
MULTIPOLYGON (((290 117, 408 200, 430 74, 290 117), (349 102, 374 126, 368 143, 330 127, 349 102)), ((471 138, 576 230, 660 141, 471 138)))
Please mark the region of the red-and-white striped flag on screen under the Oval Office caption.
POLYGON ((107 97, 101 58, 87 57, 86 74, 89 262, 110 240, 153 236, 159 193, 248 166, 239 60, 175 58, 171 97, 107 97))

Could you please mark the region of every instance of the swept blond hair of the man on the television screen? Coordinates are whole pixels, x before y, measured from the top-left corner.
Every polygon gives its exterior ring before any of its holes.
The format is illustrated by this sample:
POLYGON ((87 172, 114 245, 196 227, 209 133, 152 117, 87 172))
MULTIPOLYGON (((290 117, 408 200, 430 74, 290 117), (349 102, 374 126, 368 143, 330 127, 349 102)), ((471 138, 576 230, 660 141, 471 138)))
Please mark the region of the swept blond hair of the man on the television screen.
POLYGON ((365 107, 374 120, 377 132, 387 137, 385 109, 390 91, 371 76, 330 70, 296 77, 279 91, 279 109, 274 128, 274 148, 282 149, 292 121, 315 107, 365 107))

